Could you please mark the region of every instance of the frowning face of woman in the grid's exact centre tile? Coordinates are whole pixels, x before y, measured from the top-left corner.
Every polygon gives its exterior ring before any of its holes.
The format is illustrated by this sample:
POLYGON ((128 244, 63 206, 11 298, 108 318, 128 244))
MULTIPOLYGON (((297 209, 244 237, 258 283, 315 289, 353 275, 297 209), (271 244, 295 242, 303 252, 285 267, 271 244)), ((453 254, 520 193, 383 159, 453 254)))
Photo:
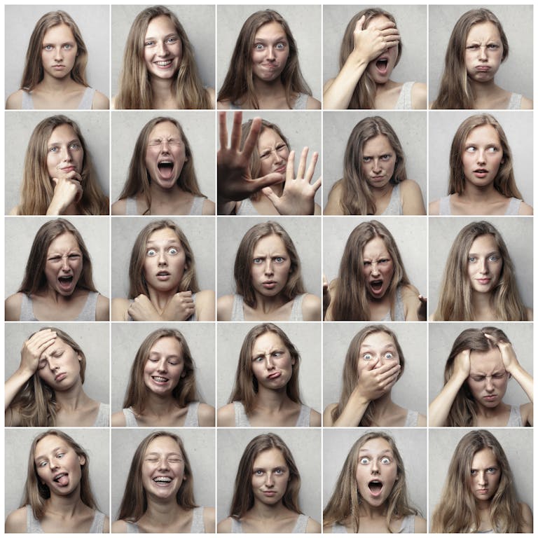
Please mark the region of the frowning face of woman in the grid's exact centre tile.
POLYGON ((284 241, 279 235, 262 237, 254 246, 251 277, 254 291, 263 296, 275 297, 286 287, 291 260, 284 241))

